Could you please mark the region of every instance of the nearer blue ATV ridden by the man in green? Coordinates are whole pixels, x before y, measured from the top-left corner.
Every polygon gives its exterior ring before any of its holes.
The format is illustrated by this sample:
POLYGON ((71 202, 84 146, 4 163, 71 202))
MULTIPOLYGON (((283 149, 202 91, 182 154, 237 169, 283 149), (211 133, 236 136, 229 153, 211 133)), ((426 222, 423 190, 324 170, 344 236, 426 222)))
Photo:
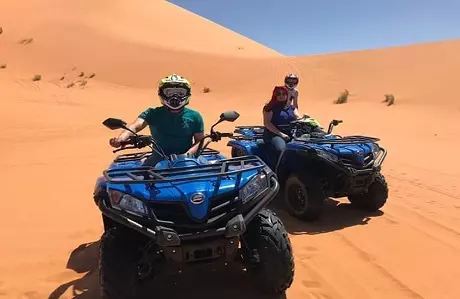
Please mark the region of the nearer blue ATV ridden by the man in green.
MULTIPOLYGON (((151 148, 117 156, 96 182, 94 200, 104 224, 99 256, 103 299, 138 298, 147 280, 206 263, 242 266, 269 293, 282 294, 291 286, 294 259, 288 234, 265 209, 279 190, 276 175, 257 156, 227 159, 207 148, 232 136, 214 126, 238 117, 235 111, 222 113, 195 155, 165 155, 151 136, 134 132, 114 150, 151 148), (162 160, 144 166, 153 151, 162 160)), ((129 130, 120 119, 103 124, 129 130)))

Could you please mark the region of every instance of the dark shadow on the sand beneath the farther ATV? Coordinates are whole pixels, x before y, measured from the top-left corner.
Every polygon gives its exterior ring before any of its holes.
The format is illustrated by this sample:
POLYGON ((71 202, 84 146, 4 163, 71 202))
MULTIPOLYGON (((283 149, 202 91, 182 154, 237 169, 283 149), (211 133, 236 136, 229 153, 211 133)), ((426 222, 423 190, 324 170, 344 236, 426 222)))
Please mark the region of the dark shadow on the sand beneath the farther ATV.
POLYGON ((269 206, 281 218, 286 230, 293 235, 317 235, 341 230, 355 225, 366 225, 372 217, 383 215, 382 211, 365 212, 354 208, 350 203, 341 203, 329 198, 324 214, 312 222, 302 221, 289 215, 281 198, 277 197, 269 206))

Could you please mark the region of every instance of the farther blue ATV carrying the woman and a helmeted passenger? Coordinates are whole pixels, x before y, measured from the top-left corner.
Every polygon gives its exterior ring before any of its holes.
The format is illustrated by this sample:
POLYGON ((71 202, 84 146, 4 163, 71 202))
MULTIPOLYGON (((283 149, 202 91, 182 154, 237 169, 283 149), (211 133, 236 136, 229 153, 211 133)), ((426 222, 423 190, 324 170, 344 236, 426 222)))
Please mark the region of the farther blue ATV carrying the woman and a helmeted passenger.
POLYGON ((325 132, 308 115, 282 126, 290 136, 278 161, 270 161, 271 146, 264 143, 263 126, 238 126, 228 145, 232 157, 256 155, 277 174, 280 192, 294 217, 313 221, 323 212, 328 197, 348 197, 359 209, 379 210, 388 197, 388 187, 380 173, 387 151, 378 138, 332 134, 333 120, 325 132), (274 163, 270 163, 274 162, 274 163))

